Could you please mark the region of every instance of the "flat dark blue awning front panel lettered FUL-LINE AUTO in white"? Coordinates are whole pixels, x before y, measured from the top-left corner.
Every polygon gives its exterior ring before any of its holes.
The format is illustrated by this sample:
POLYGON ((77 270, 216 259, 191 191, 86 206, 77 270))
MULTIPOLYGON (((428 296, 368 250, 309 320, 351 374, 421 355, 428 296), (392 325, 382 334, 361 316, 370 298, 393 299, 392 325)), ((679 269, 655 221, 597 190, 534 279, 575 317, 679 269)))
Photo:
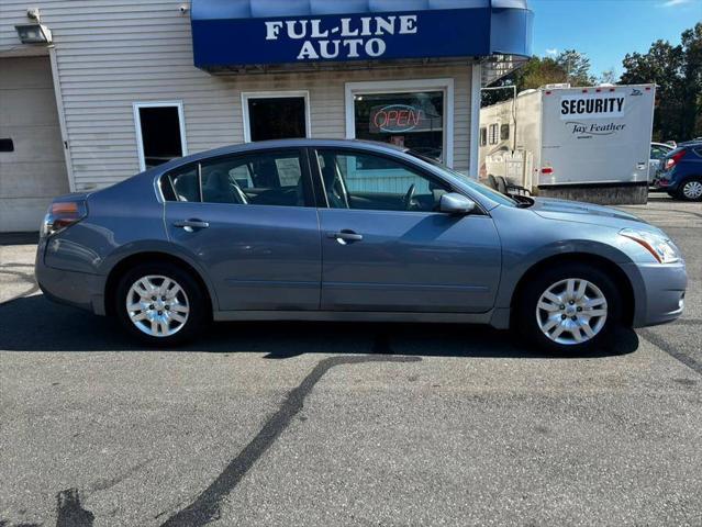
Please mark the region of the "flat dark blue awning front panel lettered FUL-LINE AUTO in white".
POLYGON ((488 55, 490 9, 192 20, 198 67, 488 55))

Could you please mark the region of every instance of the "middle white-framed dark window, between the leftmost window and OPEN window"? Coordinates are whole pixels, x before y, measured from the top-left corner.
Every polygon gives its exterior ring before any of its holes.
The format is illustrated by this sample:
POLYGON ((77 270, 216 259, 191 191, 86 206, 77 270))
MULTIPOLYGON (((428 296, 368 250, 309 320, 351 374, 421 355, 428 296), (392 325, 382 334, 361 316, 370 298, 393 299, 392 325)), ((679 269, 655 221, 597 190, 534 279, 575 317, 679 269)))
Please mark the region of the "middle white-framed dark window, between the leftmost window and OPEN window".
POLYGON ((244 142, 310 137, 307 91, 242 93, 244 142))

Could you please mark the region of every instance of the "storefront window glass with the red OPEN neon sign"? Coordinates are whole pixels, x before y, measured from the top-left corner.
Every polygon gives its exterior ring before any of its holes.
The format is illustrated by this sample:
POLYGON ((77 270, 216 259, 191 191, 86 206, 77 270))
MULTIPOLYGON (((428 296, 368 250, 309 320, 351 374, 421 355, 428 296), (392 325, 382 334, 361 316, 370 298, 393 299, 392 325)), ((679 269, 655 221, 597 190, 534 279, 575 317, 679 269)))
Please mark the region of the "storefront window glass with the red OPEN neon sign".
POLYGON ((444 91, 358 93, 354 97, 357 139, 403 146, 444 158, 444 91))

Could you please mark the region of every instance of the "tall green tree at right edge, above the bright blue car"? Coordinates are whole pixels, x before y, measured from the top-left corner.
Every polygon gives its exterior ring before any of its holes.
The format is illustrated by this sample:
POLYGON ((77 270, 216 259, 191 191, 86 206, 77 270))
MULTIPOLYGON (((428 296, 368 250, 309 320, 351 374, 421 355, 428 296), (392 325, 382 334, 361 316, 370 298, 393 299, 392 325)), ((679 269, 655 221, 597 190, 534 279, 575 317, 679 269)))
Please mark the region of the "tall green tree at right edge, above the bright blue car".
POLYGON ((657 85, 654 138, 687 141, 702 135, 702 23, 682 33, 680 45, 656 41, 627 54, 621 82, 657 85))

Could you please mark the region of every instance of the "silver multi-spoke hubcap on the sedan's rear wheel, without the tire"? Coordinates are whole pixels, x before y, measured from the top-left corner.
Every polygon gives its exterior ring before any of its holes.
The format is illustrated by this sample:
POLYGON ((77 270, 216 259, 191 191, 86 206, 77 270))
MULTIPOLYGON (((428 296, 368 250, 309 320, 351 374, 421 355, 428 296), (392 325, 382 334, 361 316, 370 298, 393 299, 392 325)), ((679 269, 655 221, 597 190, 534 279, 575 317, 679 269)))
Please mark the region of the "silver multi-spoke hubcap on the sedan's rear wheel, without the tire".
POLYGON ((132 323, 152 337, 169 337, 188 322, 188 295, 168 277, 149 274, 136 280, 126 294, 126 312, 132 323))

